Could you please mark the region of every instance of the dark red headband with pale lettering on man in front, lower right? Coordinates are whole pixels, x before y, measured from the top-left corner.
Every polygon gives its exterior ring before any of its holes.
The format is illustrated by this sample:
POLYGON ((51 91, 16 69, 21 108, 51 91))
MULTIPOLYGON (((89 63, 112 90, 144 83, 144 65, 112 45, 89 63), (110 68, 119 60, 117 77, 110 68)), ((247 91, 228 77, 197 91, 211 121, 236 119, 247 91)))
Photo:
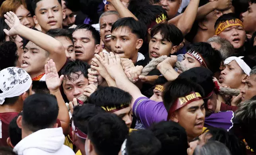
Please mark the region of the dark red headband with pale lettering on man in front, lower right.
POLYGON ((168 112, 167 120, 170 118, 171 113, 197 100, 202 100, 200 93, 191 92, 185 97, 179 97, 171 106, 168 112))

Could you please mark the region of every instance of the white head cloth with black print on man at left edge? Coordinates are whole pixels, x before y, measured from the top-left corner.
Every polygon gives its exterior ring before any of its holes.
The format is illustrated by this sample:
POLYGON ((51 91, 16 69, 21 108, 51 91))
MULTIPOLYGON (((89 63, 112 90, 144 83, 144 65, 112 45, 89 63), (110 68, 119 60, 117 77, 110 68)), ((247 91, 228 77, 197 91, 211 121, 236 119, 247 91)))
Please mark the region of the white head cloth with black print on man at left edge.
POLYGON ((8 67, 0 71, 0 105, 5 98, 19 96, 25 93, 32 85, 29 74, 17 67, 8 67))

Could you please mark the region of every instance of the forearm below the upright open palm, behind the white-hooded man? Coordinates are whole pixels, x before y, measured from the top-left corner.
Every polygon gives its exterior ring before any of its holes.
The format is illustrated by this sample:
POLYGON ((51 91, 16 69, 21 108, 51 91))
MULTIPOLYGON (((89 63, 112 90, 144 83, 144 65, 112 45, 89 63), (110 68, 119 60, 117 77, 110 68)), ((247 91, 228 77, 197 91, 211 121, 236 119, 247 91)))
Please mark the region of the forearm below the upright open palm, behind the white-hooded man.
POLYGON ((68 108, 60 93, 60 89, 58 89, 57 91, 50 91, 50 94, 56 96, 57 98, 58 107, 59 107, 59 113, 57 118, 60 120, 63 133, 68 134, 69 127, 70 127, 70 117, 68 114, 68 108))

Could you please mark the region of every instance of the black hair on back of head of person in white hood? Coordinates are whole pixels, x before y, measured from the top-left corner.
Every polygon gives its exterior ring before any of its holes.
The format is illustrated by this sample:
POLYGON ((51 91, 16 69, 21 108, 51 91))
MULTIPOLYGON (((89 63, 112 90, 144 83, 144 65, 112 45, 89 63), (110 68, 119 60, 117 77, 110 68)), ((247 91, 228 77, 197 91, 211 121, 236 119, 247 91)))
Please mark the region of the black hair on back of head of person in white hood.
POLYGON ((32 132, 51 128, 57 121, 58 111, 58 102, 54 95, 30 95, 24 100, 22 125, 32 132))

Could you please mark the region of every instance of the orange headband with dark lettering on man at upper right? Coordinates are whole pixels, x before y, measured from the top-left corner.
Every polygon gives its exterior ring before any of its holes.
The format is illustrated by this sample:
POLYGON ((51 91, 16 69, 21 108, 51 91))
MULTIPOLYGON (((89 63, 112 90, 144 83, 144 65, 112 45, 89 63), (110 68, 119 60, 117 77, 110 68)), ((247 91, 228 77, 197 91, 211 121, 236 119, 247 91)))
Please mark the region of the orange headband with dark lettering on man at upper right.
POLYGON ((218 35, 223 30, 225 30, 226 28, 231 27, 231 26, 242 26, 244 28, 244 25, 242 24, 242 21, 240 21, 237 18, 236 19, 231 19, 231 20, 227 20, 227 21, 224 21, 224 22, 220 23, 218 25, 218 27, 216 28, 216 30, 215 30, 215 34, 218 35))

